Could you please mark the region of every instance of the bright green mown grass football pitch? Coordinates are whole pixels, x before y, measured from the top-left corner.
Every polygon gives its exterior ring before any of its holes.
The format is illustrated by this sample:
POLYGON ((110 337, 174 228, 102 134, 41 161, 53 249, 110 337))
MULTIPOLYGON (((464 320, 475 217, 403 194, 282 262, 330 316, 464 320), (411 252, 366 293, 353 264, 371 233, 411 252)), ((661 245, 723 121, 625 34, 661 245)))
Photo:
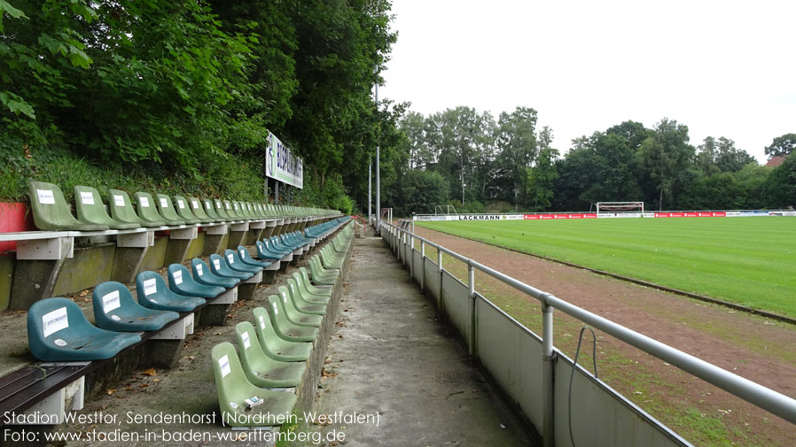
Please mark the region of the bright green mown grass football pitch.
POLYGON ((796 219, 418 222, 452 235, 796 317, 796 219))

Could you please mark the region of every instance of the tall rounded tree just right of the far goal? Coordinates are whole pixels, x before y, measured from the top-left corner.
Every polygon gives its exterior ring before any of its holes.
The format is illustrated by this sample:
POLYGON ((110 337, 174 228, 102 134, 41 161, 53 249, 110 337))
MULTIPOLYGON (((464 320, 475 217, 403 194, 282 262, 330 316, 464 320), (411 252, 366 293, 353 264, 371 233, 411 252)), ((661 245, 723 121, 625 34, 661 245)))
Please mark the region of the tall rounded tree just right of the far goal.
POLYGON ((675 187, 683 181, 694 158, 694 147, 688 142, 688 127, 677 124, 674 119, 664 118, 638 150, 639 166, 659 193, 659 210, 663 209, 664 196, 672 198, 675 187))

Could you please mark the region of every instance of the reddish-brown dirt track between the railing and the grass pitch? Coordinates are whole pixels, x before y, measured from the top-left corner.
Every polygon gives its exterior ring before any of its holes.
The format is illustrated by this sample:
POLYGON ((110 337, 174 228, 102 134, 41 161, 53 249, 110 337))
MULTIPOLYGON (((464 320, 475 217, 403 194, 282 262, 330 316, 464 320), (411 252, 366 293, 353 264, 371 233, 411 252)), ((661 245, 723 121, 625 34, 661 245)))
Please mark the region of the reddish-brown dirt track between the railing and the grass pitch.
MULTIPOLYGON (((537 289, 550 292, 590 312, 796 398, 796 328, 792 325, 644 288, 427 228, 418 227, 417 233, 537 289)), ((486 275, 477 276, 477 282, 487 285, 491 290, 498 290, 501 294, 519 295, 516 290, 509 289, 486 275)), ((533 300, 530 297, 527 299, 533 300)), ((558 312, 558 317, 560 313, 558 312)), ((726 437, 720 436, 723 439, 702 439, 706 444, 730 445, 732 442, 736 445, 796 445, 796 425, 746 404, 737 397, 690 374, 684 374, 609 335, 601 334, 599 339, 598 351, 609 351, 605 348, 618 350, 626 358, 638 361, 638 373, 652 374, 651 377, 660 379, 651 380, 652 394, 659 393, 659 399, 663 398, 668 402, 676 400, 678 402, 674 406, 679 408, 696 408, 694 412, 697 417, 701 412, 702 418, 710 416, 721 419, 730 434, 726 437), (667 385, 670 382, 681 385, 678 389, 672 389, 667 385)), ((584 342, 588 340, 587 337, 584 342)), ((562 343, 560 335, 557 345, 559 343, 562 343)), ((590 351, 590 343, 587 345, 590 351)), ((598 366, 605 365, 608 360, 600 357, 597 356, 598 366)), ((627 375, 628 372, 624 374, 627 375)), ((634 373, 630 371, 629 374, 634 373)), ((648 396, 638 396, 641 393, 635 392, 633 388, 623 387, 622 383, 628 385, 632 380, 611 381, 614 388, 631 397, 636 404, 646 407, 648 405, 644 405, 644 402, 652 402, 644 399, 648 396)), ((685 420, 686 426, 694 425, 692 420, 688 422, 687 417, 683 418, 683 414, 651 412, 677 431, 680 431, 676 427, 677 420, 681 420, 681 424, 685 420)), ((690 416, 693 417, 693 412, 690 416)), ((695 430, 698 431, 696 428, 695 430)), ((686 438, 692 443, 702 444, 694 436, 686 435, 686 438)))

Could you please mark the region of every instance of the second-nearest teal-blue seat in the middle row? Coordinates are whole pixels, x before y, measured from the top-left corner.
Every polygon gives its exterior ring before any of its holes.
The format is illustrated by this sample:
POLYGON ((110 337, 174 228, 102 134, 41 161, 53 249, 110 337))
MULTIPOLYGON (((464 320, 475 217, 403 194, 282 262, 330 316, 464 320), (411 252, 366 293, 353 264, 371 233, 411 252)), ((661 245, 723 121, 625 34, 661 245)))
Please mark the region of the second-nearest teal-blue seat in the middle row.
POLYGON ((121 282, 101 282, 94 288, 94 321, 98 328, 116 332, 153 331, 163 328, 180 314, 155 311, 139 305, 121 282))

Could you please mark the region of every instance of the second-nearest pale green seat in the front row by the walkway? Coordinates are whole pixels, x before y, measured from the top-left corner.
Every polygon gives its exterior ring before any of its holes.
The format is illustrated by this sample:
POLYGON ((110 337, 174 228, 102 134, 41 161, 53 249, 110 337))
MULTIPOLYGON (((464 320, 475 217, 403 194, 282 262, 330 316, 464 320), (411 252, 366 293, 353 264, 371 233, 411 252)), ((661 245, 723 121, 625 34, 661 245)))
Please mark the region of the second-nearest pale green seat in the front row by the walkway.
POLYGON ((261 388, 297 387, 307 366, 300 362, 282 362, 262 352, 252 323, 241 321, 235 325, 238 351, 246 379, 261 388))

